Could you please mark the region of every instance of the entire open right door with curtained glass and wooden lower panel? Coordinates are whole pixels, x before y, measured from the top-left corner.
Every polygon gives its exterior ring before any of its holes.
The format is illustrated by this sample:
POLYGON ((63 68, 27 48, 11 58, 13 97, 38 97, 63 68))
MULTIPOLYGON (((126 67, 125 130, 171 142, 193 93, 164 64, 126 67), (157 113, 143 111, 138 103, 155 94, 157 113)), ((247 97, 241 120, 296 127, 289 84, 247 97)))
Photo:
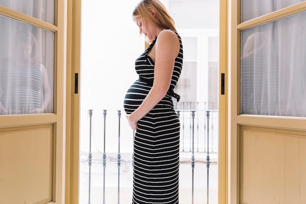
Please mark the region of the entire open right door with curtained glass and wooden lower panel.
POLYGON ((286 3, 231 4, 231 204, 306 202, 306 1, 286 3))

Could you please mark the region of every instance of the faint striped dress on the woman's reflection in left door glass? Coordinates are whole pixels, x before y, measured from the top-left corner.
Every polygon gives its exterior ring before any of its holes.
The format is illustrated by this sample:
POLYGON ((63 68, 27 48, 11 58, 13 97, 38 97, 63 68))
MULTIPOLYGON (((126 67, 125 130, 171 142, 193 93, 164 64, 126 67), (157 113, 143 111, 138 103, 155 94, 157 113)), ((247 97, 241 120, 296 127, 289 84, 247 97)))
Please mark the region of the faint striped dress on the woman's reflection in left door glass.
POLYGON ((41 65, 19 66, 5 59, 0 73, 0 101, 8 114, 26 114, 42 106, 41 65))

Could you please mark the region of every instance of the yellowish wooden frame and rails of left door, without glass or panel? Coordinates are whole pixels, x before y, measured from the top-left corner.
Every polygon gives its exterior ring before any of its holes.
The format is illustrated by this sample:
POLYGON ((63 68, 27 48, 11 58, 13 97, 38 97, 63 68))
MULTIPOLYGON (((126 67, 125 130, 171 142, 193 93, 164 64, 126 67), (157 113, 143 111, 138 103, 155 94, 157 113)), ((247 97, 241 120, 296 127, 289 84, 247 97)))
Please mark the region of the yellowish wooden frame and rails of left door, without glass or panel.
MULTIPOLYGON (((54 33, 54 113, 43 114, 29 114, 29 115, 1 115, 0 116, 0 129, 11 128, 11 130, 18 130, 19 127, 35 126, 52 124, 54 127, 54 180, 53 186, 53 202, 57 204, 64 203, 65 199, 65 113, 66 104, 63 103, 66 97, 66 0, 54 1, 54 24, 47 23, 32 16, 17 12, 10 8, 0 6, 0 14, 8 18, 28 23, 32 26, 51 31, 54 33)), ((29 129, 30 130, 30 129, 29 129)))

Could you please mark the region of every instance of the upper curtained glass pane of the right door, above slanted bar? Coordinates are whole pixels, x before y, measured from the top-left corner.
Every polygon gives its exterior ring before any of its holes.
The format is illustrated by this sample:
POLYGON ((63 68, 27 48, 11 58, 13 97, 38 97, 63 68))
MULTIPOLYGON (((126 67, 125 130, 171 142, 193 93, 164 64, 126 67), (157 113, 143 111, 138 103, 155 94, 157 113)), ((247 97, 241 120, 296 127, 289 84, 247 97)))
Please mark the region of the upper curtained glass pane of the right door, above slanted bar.
POLYGON ((241 0, 241 22, 301 3, 304 0, 241 0))

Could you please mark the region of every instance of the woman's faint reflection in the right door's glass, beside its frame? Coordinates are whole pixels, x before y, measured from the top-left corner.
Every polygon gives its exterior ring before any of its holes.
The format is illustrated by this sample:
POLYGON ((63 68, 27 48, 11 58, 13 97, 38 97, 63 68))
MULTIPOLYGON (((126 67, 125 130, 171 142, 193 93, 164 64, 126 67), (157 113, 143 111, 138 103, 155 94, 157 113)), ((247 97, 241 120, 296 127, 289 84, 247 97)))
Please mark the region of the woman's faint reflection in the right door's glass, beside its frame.
POLYGON ((268 52, 263 33, 252 33, 241 58, 242 114, 279 114, 278 68, 278 57, 268 52))

